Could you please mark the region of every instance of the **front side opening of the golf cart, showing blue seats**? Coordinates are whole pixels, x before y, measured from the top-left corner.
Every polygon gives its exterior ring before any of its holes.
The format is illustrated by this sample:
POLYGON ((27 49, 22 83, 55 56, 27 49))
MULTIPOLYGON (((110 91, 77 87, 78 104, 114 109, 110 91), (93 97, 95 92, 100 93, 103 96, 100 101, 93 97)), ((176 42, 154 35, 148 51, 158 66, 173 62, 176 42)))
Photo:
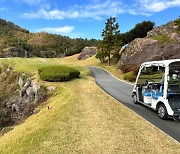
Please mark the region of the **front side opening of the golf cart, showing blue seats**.
POLYGON ((147 64, 141 68, 137 79, 139 101, 151 105, 152 100, 163 96, 165 67, 147 64))

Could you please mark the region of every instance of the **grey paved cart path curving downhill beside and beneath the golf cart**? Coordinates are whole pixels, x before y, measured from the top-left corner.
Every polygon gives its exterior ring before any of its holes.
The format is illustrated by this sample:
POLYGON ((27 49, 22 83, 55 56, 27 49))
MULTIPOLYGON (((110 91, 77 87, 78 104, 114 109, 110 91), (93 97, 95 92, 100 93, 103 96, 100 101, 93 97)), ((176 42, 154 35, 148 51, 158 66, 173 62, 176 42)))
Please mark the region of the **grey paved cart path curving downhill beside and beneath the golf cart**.
POLYGON ((139 114, 141 117, 161 129, 163 132, 180 142, 180 122, 173 120, 161 120, 157 113, 143 105, 132 103, 132 84, 120 81, 103 69, 88 67, 96 84, 116 100, 139 114))

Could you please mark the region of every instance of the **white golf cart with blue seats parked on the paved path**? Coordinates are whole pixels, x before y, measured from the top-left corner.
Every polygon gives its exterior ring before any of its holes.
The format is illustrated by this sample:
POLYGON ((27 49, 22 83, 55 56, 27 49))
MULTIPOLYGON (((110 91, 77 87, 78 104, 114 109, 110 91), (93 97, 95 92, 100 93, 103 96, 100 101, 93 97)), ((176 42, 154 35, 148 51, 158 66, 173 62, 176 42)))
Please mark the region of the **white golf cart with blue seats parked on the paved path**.
POLYGON ((180 59, 141 65, 132 92, 133 102, 157 111, 161 119, 180 120, 180 59))

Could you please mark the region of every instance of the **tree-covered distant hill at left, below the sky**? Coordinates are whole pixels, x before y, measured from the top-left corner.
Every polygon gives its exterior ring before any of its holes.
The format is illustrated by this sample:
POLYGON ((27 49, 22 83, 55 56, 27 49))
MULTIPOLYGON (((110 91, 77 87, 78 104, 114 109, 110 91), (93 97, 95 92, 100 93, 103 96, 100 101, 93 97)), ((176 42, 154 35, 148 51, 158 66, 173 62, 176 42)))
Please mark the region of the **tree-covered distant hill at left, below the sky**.
POLYGON ((96 45, 95 39, 71 39, 45 32, 31 33, 0 19, 0 57, 62 57, 79 53, 85 46, 96 45))

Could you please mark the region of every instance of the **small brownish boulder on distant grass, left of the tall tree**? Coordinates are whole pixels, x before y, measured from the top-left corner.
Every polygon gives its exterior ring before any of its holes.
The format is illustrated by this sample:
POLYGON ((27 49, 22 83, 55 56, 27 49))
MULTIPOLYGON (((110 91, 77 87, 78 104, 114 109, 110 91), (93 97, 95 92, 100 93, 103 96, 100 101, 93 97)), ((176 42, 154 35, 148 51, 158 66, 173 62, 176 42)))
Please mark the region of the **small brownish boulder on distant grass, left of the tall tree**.
POLYGON ((97 47, 85 47, 78 56, 78 60, 85 60, 92 57, 97 52, 97 47))

